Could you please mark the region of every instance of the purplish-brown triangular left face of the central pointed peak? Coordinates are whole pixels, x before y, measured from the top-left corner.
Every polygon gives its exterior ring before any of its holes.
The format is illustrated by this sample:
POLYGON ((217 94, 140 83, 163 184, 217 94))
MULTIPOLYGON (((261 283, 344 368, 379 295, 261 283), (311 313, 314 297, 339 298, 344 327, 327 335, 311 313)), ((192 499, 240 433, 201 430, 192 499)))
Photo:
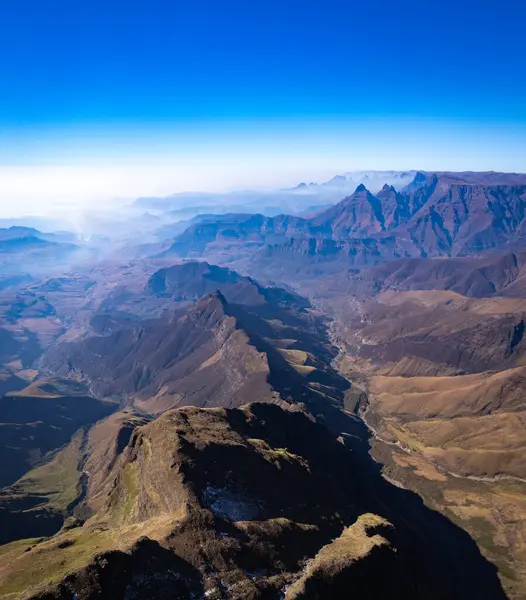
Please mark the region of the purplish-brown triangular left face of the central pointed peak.
POLYGON ((225 302, 217 293, 159 319, 117 323, 108 335, 59 344, 46 364, 58 374, 87 378, 98 394, 136 398, 152 412, 185 404, 235 406, 249 394, 271 399, 266 358, 226 314, 225 302))

